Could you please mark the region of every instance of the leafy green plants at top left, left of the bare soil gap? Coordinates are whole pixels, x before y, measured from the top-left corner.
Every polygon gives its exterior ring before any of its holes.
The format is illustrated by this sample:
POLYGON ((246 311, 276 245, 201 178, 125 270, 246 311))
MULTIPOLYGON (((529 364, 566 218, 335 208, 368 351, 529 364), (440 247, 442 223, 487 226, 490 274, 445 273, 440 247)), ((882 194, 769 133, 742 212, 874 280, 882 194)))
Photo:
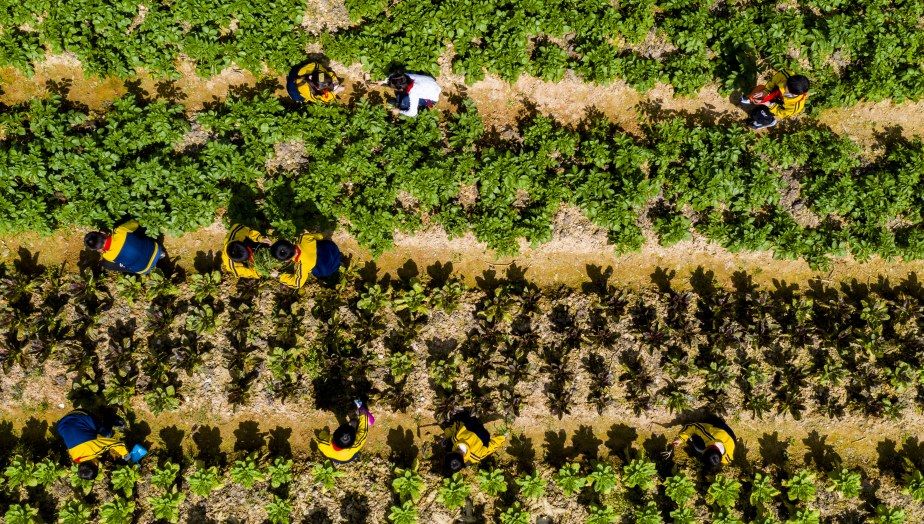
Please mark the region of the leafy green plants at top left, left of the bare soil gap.
POLYGON ((0 9, 0 64, 31 72, 45 51, 74 53, 86 72, 178 76, 176 60, 203 76, 237 64, 287 71, 310 40, 304 2, 91 0, 6 2, 0 9))

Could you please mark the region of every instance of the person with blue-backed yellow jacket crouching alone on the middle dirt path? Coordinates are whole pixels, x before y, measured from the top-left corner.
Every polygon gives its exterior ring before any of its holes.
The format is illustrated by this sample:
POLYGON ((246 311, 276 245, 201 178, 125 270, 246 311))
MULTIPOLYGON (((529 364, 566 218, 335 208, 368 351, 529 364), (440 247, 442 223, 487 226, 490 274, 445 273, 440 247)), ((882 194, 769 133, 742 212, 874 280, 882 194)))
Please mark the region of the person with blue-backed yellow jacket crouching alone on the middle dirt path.
POLYGON ((104 269, 122 273, 146 275, 167 256, 163 246, 138 230, 135 220, 116 227, 110 235, 91 231, 83 237, 83 244, 103 255, 104 269))

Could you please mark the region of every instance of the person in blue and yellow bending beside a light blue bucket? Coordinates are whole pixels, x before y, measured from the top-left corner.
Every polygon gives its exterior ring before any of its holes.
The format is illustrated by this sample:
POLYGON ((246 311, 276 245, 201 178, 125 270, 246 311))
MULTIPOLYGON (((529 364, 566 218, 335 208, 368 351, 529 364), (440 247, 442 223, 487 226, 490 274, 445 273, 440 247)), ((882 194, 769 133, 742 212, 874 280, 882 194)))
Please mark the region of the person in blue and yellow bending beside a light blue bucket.
POLYGON ((141 445, 129 451, 121 440, 114 438, 114 428, 124 427, 121 419, 106 423, 86 411, 74 410, 55 423, 55 433, 64 441, 68 455, 77 464, 77 475, 92 480, 99 473, 97 462, 107 455, 137 464, 147 454, 141 445))

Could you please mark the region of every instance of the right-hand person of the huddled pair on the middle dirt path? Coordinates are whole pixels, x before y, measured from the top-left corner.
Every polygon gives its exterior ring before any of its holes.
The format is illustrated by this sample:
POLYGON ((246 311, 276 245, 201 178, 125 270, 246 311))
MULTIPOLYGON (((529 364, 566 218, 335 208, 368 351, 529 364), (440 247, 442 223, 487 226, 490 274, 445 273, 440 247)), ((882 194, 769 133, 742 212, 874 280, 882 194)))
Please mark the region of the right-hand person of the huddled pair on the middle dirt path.
POLYGON ((302 233, 295 244, 279 240, 270 253, 280 262, 291 262, 292 271, 279 275, 279 281, 296 289, 305 285, 309 275, 328 279, 340 271, 340 249, 320 233, 302 233))

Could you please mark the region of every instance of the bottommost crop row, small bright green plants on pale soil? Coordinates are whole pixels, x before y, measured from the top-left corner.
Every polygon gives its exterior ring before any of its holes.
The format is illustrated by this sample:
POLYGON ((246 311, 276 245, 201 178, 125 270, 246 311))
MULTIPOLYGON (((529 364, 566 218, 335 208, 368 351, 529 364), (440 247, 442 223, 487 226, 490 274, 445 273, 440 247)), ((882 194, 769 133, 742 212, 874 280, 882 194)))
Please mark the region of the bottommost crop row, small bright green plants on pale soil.
POLYGON ((60 457, 48 454, 56 447, 49 434, 24 429, 23 435, 27 431, 31 446, 11 443, 0 459, 6 524, 229 517, 271 524, 331 522, 330 506, 340 508, 345 522, 384 522, 387 515, 393 524, 459 517, 529 524, 550 509, 567 514, 567 522, 587 524, 626 522, 625 516, 643 524, 817 524, 822 518, 902 524, 913 522, 915 508, 924 502, 924 476, 911 458, 895 468, 897 476, 858 469, 839 462, 819 435, 824 453, 835 459, 802 465, 742 460, 718 474, 682 458, 674 463, 657 454, 649 458, 648 447, 666 442, 659 435, 641 448, 628 442, 613 455, 585 448, 580 461, 550 454, 536 458, 524 448, 512 461, 491 457, 451 478, 426 467, 417 451, 393 455, 394 462, 364 453, 351 464, 334 466, 291 451, 225 454, 200 446, 198 454, 187 454, 155 447, 142 465, 113 464, 87 481, 77 477, 76 466, 63 467, 60 457), (350 506, 359 511, 344 511, 350 506))

